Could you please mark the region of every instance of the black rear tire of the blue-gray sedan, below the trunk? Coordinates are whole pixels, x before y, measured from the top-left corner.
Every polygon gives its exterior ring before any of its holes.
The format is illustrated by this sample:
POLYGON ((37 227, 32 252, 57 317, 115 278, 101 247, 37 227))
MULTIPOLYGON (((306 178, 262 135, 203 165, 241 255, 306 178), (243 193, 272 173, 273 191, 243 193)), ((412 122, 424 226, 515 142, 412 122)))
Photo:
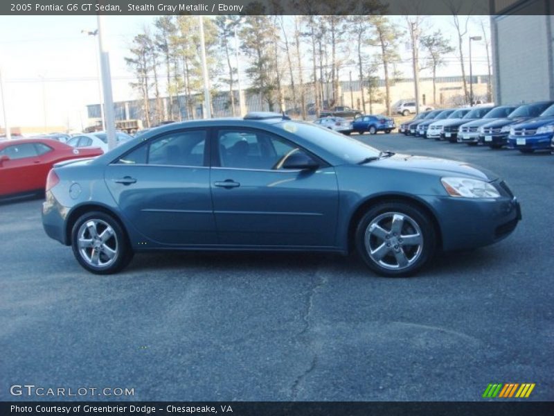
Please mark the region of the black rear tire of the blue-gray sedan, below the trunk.
MULTIPOLYGON (((107 234, 111 234, 111 232, 107 234)), ((101 211, 88 212, 75 221, 73 229, 71 229, 71 248, 73 249, 75 259, 77 259, 82 268, 96 275, 111 275, 112 273, 122 270, 129 264, 134 254, 123 227, 121 227, 119 222, 112 216, 101 211), (111 227, 113 234, 100 244, 100 241, 92 235, 93 233, 91 233, 87 223, 94 224, 98 239, 102 237, 102 233, 106 231, 108 227, 111 227), (78 243, 80 236, 83 237, 84 241, 88 241, 88 236, 91 245, 80 247, 78 243), (98 246, 95 244, 98 244, 98 246), (90 254, 88 252, 89 249, 91 250, 90 254), (109 256, 105 254, 108 249, 116 253, 112 259, 109 259, 109 256), (102 259, 108 259, 104 265, 94 265, 93 261, 91 261, 94 257, 95 250, 98 252, 97 263, 102 261, 102 259), (90 259, 87 261, 89 257, 90 259)))

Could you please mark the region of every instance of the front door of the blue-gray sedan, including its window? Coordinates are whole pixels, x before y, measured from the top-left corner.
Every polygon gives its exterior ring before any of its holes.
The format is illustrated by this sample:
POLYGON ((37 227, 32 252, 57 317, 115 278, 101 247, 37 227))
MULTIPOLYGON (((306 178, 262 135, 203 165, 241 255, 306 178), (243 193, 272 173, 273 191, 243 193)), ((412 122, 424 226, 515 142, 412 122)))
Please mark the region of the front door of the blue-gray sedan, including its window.
POLYGON ((222 245, 332 247, 338 189, 334 168, 286 170, 291 141, 251 128, 215 132, 213 207, 222 245))

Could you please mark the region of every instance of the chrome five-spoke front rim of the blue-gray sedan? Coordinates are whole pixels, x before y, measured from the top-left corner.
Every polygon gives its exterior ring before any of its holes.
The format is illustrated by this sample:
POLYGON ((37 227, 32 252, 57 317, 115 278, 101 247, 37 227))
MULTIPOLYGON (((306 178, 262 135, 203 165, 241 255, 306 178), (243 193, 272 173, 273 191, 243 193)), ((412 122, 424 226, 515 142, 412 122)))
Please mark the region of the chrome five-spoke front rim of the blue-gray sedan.
POLYGON ((420 257, 423 236, 420 226, 410 216, 386 212, 369 223, 364 244, 370 259, 379 266, 402 270, 420 257))

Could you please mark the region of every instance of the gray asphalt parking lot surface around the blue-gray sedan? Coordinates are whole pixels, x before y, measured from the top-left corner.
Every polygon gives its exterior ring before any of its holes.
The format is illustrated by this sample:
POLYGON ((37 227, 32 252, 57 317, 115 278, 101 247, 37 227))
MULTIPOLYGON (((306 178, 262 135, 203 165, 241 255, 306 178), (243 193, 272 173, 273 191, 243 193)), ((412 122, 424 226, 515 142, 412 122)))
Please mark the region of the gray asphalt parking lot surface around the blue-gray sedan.
POLYGON ((48 239, 42 200, 0 205, 0 400, 10 385, 133 388, 132 397, 479 401, 488 383, 554 400, 554 156, 403 135, 382 150, 502 175, 524 219, 409 279, 329 254, 141 254, 96 276, 48 239))

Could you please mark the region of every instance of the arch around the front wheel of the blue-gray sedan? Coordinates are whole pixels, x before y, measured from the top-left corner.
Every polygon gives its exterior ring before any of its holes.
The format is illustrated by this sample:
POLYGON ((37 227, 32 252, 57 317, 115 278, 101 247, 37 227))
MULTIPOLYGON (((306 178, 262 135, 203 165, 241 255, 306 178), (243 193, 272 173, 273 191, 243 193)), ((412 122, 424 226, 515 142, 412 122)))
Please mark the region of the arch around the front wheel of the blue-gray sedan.
POLYGON ((352 250, 354 250, 355 248, 356 227, 359 223, 359 220, 361 220, 361 217, 364 216, 364 214, 368 209, 370 209, 370 207, 382 202, 403 202, 418 207, 419 209, 424 211, 425 214, 427 214, 427 216, 429 216, 429 218, 431 219, 431 223, 433 224, 433 227, 435 229, 435 234, 437 236, 437 250, 441 250, 443 248, 443 234, 442 230, 440 229, 440 224, 438 223, 433 209, 431 209, 431 207, 429 207, 427 203, 420 200, 419 198, 415 198, 414 196, 407 196, 404 194, 383 194, 367 198, 356 207, 355 211, 350 216, 350 220, 348 221, 347 236, 348 252, 352 252, 352 250))

